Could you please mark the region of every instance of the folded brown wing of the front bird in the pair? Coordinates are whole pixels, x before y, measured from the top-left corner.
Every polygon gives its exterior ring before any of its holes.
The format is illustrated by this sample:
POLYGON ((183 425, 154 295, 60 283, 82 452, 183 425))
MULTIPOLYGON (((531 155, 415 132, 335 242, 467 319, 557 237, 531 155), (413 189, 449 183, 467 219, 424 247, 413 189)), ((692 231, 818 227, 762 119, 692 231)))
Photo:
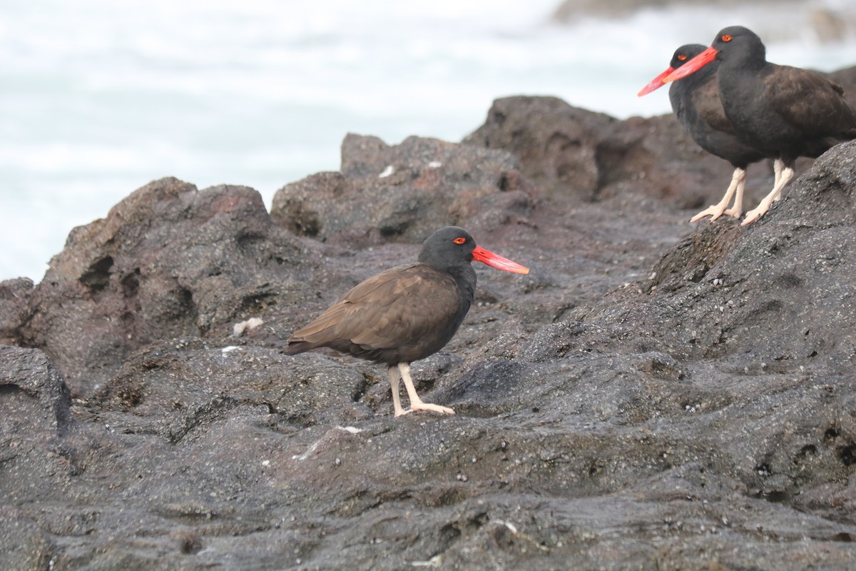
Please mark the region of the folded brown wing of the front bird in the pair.
POLYGON ((810 137, 844 134, 856 126, 856 113, 843 90, 808 69, 776 66, 764 78, 765 97, 782 119, 810 137))

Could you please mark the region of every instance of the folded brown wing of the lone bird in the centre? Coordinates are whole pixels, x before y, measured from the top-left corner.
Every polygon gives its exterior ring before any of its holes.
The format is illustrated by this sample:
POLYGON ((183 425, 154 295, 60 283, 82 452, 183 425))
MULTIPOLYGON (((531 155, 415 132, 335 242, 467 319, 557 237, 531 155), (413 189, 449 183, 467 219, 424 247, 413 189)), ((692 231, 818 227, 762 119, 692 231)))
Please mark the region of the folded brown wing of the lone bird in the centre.
POLYGON ((452 318, 458 309, 456 292, 447 274, 422 264, 398 266, 355 286, 288 343, 401 347, 452 318))

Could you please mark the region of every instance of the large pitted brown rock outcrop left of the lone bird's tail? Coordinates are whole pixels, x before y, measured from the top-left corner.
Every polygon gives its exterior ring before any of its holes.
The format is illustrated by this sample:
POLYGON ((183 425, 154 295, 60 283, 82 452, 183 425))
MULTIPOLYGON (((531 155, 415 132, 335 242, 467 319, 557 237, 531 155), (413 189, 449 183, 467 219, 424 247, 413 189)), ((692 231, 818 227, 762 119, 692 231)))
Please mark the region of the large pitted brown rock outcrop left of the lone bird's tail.
POLYGON ((17 335, 87 396, 149 342, 229 330, 268 300, 304 297, 305 260, 253 189, 155 181, 74 229, 17 335))

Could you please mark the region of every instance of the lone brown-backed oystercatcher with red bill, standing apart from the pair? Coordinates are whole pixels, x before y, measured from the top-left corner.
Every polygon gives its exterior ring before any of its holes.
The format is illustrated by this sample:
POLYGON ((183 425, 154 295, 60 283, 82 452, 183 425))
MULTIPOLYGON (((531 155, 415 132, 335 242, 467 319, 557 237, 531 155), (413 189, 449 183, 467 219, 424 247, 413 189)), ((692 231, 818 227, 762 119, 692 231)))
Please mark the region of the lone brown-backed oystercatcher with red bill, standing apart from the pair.
POLYGON ((388 367, 395 416, 414 410, 454 414, 423 402, 410 378, 410 363, 437 353, 455 335, 473 304, 473 260, 497 270, 527 274, 522 265, 476 246, 455 226, 439 229, 422 244, 418 261, 399 265, 351 289, 311 324, 288 339, 287 354, 329 347, 388 367), (410 410, 401 408, 404 380, 410 410))

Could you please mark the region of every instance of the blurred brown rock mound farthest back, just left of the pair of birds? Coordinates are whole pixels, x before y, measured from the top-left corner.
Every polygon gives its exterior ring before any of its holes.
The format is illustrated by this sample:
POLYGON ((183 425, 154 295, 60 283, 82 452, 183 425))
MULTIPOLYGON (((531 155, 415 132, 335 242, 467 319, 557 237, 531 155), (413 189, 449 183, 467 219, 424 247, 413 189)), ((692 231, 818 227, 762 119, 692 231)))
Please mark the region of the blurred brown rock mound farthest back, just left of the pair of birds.
MULTIPOLYGON (((619 121, 552 97, 496 99, 464 142, 512 152, 545 195, 589 201, 644 194, 698 208, 725 192, 734 170, 696 145, 672 115, 619 121)), ((772 188, 764 166, 749 170, 747 201, 772 188)))

